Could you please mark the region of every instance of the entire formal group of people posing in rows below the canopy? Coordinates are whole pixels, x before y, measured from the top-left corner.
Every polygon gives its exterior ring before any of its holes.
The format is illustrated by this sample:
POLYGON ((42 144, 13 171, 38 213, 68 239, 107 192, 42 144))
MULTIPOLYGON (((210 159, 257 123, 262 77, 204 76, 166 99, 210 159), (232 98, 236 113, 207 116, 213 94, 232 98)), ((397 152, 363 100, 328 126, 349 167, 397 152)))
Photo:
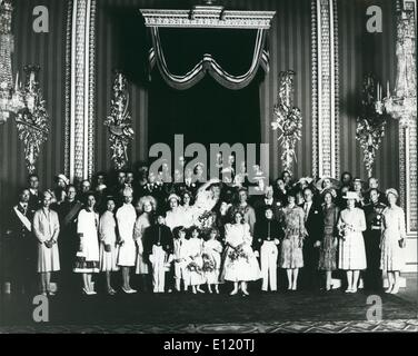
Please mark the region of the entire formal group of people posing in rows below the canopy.
POLYGON ((378 289, 384 271, 386 291, 398 293, 406 231, 396 189, 382 192, 376 178, 349 172, 297 180, 283 171, 269 184, 258 170, 262 194, 249 195, 246 169, 208 181, 203 169, 176 171, 167 182, 142 165, 115 172, 113 184, 99 172, 78 187, 59 175, 43 192, 31 175, 6 234, 16 288, 28 289, 37 271, 40 293, 54 295, 51 274, 60 271, 60 293, 77 288, 80 274, 82 291, 94 295, 92 276, 103 273, 115 295, 121 271, 126 294, 137 293, 138 275, 141 291, 218 294, 230 281, 231 295, 246 296, 259 279, 262 291, 276 291, 282 268, 288 290, 299 279, 302 288, 330 290, 335 271, 345 271, 346 293, 357 291, 360 273, 365 287, 378 289))

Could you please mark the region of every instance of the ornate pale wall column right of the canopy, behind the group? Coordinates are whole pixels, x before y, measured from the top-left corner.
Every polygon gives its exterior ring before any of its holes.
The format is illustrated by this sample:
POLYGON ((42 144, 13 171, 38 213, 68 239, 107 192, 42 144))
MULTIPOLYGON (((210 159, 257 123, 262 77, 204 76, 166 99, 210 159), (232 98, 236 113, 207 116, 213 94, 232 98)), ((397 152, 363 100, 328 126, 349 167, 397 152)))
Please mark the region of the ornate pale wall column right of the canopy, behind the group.
POLYGON ((312 0, 312 175, 339 176, 336 0, 312 0))

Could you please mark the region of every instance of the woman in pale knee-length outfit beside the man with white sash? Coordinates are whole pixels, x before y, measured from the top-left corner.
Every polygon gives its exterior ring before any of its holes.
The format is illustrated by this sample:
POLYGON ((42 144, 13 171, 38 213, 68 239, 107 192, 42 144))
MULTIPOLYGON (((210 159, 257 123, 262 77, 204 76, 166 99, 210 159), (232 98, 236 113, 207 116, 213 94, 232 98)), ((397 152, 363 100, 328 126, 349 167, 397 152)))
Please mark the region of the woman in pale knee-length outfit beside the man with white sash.
POLYGON ((43 194, 42 208, 34 212, 33 233, 38 239, 38 273, 42 295, 53 296, 50 288, 51 271, 60 270, 57 239, 60 231, 58 214, 51 210, 52 194, 43 194))

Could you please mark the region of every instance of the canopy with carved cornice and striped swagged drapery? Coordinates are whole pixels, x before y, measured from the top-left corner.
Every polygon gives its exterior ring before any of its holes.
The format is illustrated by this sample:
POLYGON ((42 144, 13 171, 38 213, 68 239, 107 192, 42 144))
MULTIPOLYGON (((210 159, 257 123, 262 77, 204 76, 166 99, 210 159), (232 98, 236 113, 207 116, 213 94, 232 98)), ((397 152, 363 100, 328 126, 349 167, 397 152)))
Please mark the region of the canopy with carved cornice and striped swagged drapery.
MULTIPOLYGON (((255 78, 258 68, 268 72, 269 53, 266 48, 267 31, 270 28, 275 11, 229 11, 222 7, 198 6, 191 10, 140 10, 146 26, 150 28, 152 47, 149 51, 150 72, 157 65, 161 77, 175 89, 189 89, 209 73, 217 82, 229 89, 242 89, 255 78), (231 73, 220 63, 213 53, 202 52, 198 62, 191 62, 189 69, 182 73, 173 73, 168 60, 166 48, 160 36, 160 28, 172 29, 217 29, 217 30, 249 30, 256 31, 250 48, 240 49, 242 53, 237 57, 248 56, 249 67, 242 73, 231 73), (252 47, 253 46, 253 47, 252 47), (248 50, 251 50, 248 53, 248 50)), ((247 46, 246 46, 247 47, 247 46)), ((189 43, 188 51, 196 46, 189 43)), ((219 56, 219 55, 218 55, 219 56)))

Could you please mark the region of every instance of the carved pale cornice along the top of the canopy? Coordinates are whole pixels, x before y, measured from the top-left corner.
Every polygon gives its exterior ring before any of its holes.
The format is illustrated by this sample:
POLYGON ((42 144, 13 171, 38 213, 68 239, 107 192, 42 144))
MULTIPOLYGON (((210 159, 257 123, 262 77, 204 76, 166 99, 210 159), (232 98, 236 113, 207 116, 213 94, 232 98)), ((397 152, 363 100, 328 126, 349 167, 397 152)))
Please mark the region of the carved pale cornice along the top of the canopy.
POLYGON ((146 27, 269 29, 276 11, 236 11, 223 7, 191 10, 140 9, 146 27))

